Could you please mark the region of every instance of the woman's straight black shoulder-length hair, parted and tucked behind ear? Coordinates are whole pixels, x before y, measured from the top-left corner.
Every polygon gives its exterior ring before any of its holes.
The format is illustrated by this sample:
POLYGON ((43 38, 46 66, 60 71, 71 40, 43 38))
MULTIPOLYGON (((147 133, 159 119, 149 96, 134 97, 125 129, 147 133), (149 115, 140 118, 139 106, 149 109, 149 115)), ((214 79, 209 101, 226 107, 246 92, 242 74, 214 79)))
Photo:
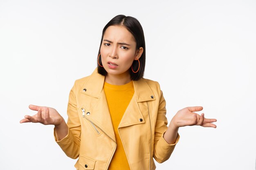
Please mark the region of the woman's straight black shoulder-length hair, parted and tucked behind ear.
MULTIPOLYGON (((139 66, 139 62, 137 60, 134 60, 132 62, 133 70, 137 71, 138 67, 139 67, 139 71, 137 73, 133 73, 132 68, 129 68, 131 79, 138 80, 141 77, 143 77, 143 75, 144 75, 145 63, 146 63, 145 38, 144 38, 144 32, 143 32, 142 26, 136 18, 133 18, 131 16, 125 16, 125 15, 117 15, 114 18, 112 18, 112 20, 110 20, 108 22, 108 24, 106 24, 106 26, 103 28, 102 36, 101 36, 101 43, 102 43, 103 35, 104 35, 106 29, 109 26, 114 26, 114 25, 125 26, 126 29, 133 35, 133 37, 136 41, 136 49, 138 50, 139 47, 143 48, 143 53, 141 54, 141 57, 139 58, 140 66, 139 66)), ((98 56, 100 54, 100 49, 101 49, 101 44, 99 47, 98 56)), ((99 58, 99 63, 102 65, 101 57, 99 58)), ((106 75, 107 71, 105 70, 104 67, 99 66, 98 61, 97 61, 97 65, 98 65, 98 73, 101 75, 106 75)))

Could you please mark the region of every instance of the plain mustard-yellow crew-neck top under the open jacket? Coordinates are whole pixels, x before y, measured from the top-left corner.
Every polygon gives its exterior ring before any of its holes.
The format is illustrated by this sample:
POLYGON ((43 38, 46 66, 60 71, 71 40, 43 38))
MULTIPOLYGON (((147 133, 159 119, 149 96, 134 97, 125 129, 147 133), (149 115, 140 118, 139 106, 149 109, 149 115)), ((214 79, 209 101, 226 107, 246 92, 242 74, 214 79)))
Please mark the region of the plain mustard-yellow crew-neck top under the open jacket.
POLYGON ((132 81, 124 85, 112 85, 104 82, 104 91, 117 141, 117 149, 108 170, 130 170, 124 147, 118 133, 118 125, 134 94, 132 81))

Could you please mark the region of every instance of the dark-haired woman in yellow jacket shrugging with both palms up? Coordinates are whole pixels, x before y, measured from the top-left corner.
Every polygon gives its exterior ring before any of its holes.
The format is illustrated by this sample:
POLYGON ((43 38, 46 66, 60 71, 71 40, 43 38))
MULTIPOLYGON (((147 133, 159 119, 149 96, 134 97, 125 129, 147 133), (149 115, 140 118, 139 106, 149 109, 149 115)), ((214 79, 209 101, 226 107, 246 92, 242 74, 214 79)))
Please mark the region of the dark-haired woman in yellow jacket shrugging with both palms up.
POLYGON ((155 170, 153 157, 166 161, 182 126, 213 127, 216 119, 179 110, 167 127, 166 102, 159 84, 144 79, 145 40, 139 21, 117 15, 104 27, 92 75, 70 91, 67 124, 54 109, 29 105, 34 116, 20 123, 53 124, 54 137, 78 170, 155 170))

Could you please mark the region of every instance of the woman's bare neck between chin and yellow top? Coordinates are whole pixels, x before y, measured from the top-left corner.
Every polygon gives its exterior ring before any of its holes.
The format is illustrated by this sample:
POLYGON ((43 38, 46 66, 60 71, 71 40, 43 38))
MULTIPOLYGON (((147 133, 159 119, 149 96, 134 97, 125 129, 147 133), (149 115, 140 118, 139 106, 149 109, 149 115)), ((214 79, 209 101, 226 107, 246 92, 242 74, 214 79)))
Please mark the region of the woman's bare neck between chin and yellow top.
POLYGON ((128 75, 111 75, 108 74, 105 77, 105 82, 113 85, 124 85, 131 81, 130 74, 128 75))

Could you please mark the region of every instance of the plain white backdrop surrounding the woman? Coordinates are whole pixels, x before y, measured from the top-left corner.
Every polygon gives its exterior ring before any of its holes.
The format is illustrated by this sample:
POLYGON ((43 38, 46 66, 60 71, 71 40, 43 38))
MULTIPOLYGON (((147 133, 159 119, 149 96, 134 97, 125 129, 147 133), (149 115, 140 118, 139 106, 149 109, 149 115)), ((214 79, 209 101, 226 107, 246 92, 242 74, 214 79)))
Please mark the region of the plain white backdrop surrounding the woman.
POLYGON ((0 0, 0 170, 74 169, 53 126, 19 121, 36 113, 29 104, 67 121, 70 89, 97 66, 102 29, 118 14, 144 29, 144 77, 159 82, 168 123, 186 106, 218 120, 180 128, 157 170, 254 170, 255 0, 0 0))

